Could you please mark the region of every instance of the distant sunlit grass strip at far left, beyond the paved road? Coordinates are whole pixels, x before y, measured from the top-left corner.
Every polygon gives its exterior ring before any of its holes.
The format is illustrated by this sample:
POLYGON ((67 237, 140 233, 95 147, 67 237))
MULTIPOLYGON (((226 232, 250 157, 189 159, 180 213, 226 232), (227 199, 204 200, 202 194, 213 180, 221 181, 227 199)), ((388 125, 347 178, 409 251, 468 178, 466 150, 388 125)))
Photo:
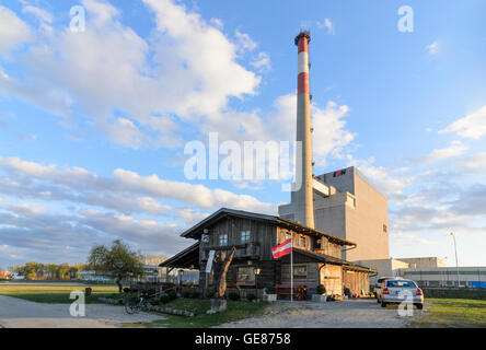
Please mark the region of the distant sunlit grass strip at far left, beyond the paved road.
POLYGON ((70 293, 76 290, 84 291, 91 287, 93 294, 85 298, 86 304, 97 303, 100 296, 108 296, 118 292, 116 285, 49 285, 48 283, 32 283, 28 285, 9 285, 0 284, 0 295, 20 298, 37 303, 50 304, 70 304, 73 300, 69 299, 70 293))

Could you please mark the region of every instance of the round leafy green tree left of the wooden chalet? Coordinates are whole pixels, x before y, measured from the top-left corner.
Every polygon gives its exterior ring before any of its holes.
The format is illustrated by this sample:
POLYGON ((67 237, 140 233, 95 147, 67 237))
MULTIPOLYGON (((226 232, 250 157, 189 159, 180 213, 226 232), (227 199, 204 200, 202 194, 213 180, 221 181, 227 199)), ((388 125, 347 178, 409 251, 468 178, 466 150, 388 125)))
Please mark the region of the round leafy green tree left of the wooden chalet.
POLYGON ((113 242, 111 248, 97 245, 91 249, 88 258, 90 268, 116 278, 118 292, 121 293, 121 280, 129 276, 142 276, 142 256, 134 252, 120 240, 113 242))

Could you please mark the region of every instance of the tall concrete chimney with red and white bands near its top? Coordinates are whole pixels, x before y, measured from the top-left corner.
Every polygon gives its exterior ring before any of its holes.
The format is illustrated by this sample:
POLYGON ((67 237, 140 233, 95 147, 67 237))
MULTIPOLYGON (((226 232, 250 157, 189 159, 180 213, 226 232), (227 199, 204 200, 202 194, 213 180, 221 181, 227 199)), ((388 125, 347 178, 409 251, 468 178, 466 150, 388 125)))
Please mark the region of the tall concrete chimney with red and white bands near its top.
MULTIPOLYGON (((297 89, 297 141, 302 142, 302 161, 297 162, 297 177, 301 176, 302 186, 294 194, 296 221, 314 229, 314 203, 312 186, 312 140, 311 140, 311 98, 309 91, 309 54, 311 42, 309 32, 300 32, 296 37, 298 46, 298 89, 297 89)), ((299 183, 299 182, 298 182, 299 183)))

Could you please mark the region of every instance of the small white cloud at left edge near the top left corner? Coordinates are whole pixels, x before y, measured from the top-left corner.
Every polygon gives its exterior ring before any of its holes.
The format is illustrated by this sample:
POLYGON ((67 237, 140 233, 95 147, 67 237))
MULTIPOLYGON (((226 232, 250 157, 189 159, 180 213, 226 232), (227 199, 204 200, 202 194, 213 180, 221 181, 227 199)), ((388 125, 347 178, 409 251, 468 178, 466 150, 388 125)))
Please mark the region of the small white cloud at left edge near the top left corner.
POLYGON ((0 5, 0 54, 8 54, 30 39, 28 26, 15 13, 0 5))

